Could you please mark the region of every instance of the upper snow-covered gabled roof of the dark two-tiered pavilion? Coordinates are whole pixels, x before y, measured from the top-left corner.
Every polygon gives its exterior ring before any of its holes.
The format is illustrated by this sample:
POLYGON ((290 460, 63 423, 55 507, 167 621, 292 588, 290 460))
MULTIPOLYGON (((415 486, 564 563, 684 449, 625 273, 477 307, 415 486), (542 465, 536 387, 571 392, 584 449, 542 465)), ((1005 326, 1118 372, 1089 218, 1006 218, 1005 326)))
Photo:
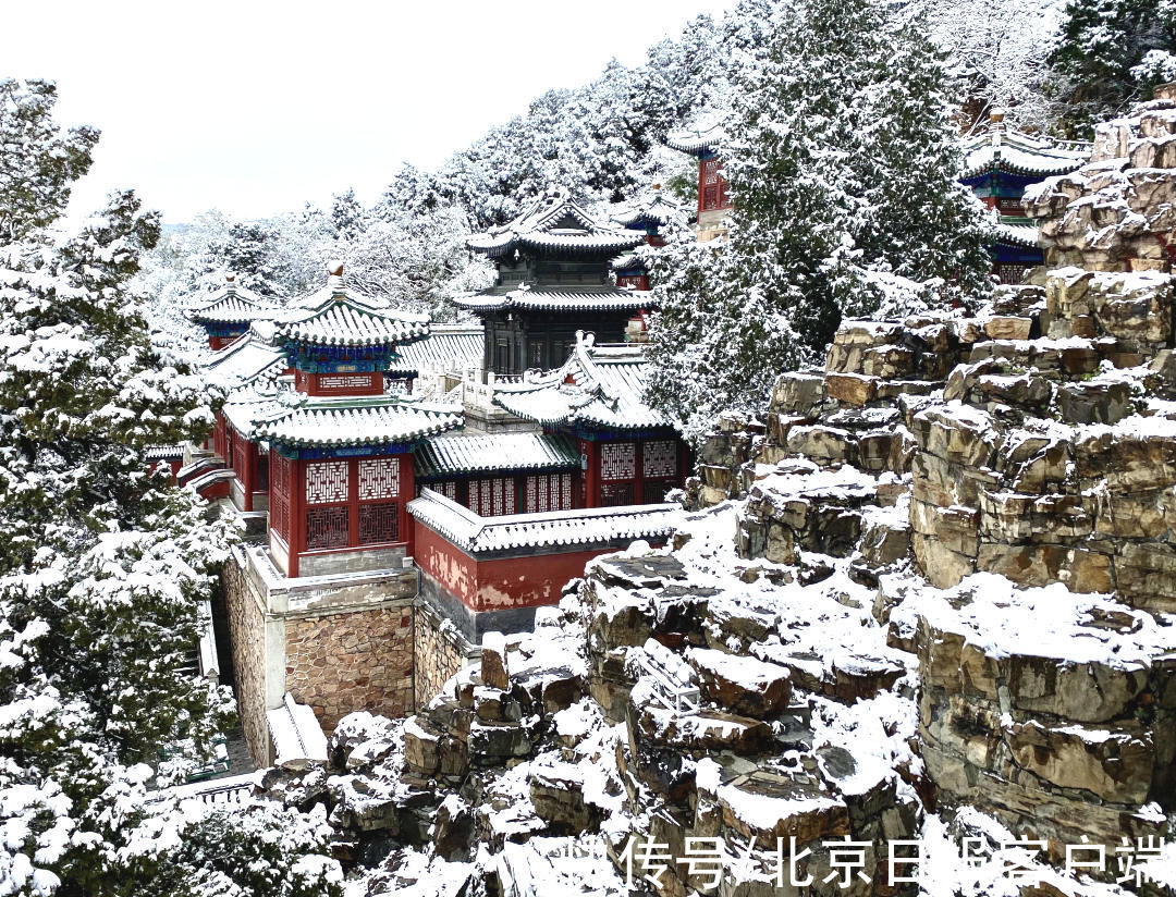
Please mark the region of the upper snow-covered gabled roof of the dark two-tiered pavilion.
POLYGON ((630 249, 643 241, 642 234, 602 225, 567 190, 553 189, 510 223, 475 234, 467 246, 494 259, 516 247, 600 255, 630 249))

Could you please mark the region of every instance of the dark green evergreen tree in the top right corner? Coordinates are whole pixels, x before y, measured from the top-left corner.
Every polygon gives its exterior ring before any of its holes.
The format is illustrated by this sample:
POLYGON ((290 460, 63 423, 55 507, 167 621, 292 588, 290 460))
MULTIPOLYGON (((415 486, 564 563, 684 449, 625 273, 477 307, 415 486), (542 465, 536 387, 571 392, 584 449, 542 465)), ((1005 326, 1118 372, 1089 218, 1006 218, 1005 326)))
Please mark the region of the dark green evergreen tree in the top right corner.
POLYGON ((1063 129, 1088 138, 1095 122, 1149 99, 1174 53, 1172 0, 1070 0, 1050 56, 1063 129))

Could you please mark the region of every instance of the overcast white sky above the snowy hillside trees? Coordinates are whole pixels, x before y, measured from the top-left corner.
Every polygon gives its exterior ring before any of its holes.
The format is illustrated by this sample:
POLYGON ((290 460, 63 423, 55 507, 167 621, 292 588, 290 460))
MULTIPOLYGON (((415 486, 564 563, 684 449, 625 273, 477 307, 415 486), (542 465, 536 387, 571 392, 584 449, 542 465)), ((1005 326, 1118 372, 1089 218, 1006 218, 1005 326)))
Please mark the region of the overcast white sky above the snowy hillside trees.
POLYGON ((171 222, 263 216, 347 187, 374 199, 401 161, 435 167, 730 5, 44 0, 5 9, 0 75, 55 79, 59 120, 102 129, 75 213, 133 187, 171 222))

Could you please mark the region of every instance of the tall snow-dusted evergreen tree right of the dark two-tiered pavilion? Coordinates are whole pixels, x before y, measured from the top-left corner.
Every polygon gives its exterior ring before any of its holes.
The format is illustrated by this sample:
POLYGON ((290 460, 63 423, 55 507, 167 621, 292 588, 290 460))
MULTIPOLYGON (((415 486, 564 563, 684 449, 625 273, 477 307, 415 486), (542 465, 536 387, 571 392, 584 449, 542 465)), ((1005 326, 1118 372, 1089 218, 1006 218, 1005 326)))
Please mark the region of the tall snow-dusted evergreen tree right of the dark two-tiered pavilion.
POLYGON ((723 148, 728 241, 709 260, 679 249, 655 262, 650 399, 688 433, 762 407, 776 374, 818 361, 842 314, 877 312, 894 282, 927 283, 940 303, 989 288, 944 62, 917 20, 888 8, 806 0, 759 24, 770 42, 750 45, 723 148))

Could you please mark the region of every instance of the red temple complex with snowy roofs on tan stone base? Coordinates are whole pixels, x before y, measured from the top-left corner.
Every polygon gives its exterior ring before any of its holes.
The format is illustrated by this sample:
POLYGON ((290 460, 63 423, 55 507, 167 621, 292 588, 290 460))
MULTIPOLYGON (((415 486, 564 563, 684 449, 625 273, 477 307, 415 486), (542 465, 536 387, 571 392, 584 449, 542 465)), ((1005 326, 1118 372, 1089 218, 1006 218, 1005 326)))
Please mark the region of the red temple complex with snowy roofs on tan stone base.
POLYGON ((214 616, 258 762, 274 758, 290 708, 327 730, 353 710, 412 712, 485 632, 532 625, 590 558, 673 531, 677 506, 663 498, 687 455, 641 402, 642 347, 573 333, 553 370, 487 386, 526 431, 465 433, 461 404, 401 387, 481 361, 483 333, 434 330, 336 267, 208 360, 230 391, 178 478, 243 524, 214 616))

